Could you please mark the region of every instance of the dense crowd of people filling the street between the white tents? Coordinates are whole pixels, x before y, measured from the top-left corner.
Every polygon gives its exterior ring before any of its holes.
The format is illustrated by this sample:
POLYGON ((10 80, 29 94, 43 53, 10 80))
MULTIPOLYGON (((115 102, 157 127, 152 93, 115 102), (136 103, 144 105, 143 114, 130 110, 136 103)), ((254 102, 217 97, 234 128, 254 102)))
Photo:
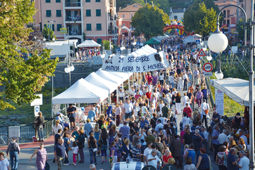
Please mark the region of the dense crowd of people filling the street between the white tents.
MULTIPOLYGON (((221 121, 216 106, 211 109, 198 50, 182 48, 178 40, 170 39, 161 48, 167 53, 169 68, 138 74, 130 89, 119 88, 113 93, 113 103, 104 109, 95 105, 83 127, 75 124, 77 109, 72 104, 67 109, 70 124, 57 114, 53 161, 59 170, 70 162, 84 163, 85 146, 89 148, 91 168, 97 163, 139 161, 157 170, 164 166, 209 170, 214 161, 220 170, 247 170, 249 145, 240 113, 233 118, 230 126, 234 127, 229 128, 221 121), (180 124, 178 114, 182 115, 180 124), (101 162, 97 156, 101 156, 101 162)), ((41 120, 37 119, 40 133, 41 120)), ((35 154, 38 169, 46 166, 43 144, 31 158, 35 154)))

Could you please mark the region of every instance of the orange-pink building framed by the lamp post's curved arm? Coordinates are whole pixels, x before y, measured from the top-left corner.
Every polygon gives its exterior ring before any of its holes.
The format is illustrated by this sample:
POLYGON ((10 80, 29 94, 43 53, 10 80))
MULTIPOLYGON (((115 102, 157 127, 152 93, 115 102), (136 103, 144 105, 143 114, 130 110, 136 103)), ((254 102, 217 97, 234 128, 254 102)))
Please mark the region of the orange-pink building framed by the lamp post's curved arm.
MULTIPOLYGON (((218 5, 219 9, 221 10, 227 5, 237 5, 237 0, 218 0, 215 1, 215 4, 218 5)), ((226 27, 224 27, 225 30, 228 30, 230 25, 236 24, 236 11, 236 7, 228 7, 222 11, 224 17, 222 25, 226 25, 226 27)))

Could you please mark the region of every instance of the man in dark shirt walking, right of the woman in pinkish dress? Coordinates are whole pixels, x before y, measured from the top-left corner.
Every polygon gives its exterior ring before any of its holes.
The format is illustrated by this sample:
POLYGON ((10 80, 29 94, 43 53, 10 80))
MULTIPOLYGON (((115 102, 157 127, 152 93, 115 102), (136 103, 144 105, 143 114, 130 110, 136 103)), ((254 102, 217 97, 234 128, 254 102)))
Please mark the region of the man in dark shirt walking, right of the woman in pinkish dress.
POLYGON ((58 170, 62 170, 64 159, 67 157, 62 137, 58 139, 58 144, 55 146, 54 156, 58 164, 58 170))

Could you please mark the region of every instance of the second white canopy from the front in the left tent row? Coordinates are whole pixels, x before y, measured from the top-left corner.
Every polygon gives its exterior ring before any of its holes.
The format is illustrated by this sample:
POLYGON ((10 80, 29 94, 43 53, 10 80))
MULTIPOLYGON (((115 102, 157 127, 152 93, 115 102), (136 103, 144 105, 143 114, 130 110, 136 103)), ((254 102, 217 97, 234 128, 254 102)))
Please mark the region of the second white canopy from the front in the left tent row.
POLYGON ((117 83, 113 83, 109 80, 100 77, 95 72, 90 73, 86 78, 86 81, 90 82, 91 84, 100 87, 102 89, 108 90, 109 94, 113 92, 117 88, 117 83))

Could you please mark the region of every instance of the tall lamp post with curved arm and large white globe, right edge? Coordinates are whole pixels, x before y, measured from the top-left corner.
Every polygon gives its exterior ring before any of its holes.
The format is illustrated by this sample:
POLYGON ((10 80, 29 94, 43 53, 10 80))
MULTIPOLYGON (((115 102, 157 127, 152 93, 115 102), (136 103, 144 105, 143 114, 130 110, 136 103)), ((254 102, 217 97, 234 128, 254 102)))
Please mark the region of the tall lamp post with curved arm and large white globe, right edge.
POLYGON ((254 19, 254 0, 251 0, 251 20, 247 23, 247 15, 244 9, 238 5, 227 5, 223 7, 217 17, 217 29, 208 39, 208 46, 214 52, 222 52, 226 49, 228 45, 227 37, 219 30, 219 17, 223 9, 235 6, 241 9, 245 16, 245 25, 249 27, 250 31, 250 45, 246 46, 246 37, 247 37, 247 28, 244 31, 244 45, 250 50, 250 71, 249 71, 249 143, 250 143, 250 170, 255 170, 254 166, 254 99, 253 99, 253 86, 254 86, 254 72, 253 72, 253 25, 255 22, 254 19))

